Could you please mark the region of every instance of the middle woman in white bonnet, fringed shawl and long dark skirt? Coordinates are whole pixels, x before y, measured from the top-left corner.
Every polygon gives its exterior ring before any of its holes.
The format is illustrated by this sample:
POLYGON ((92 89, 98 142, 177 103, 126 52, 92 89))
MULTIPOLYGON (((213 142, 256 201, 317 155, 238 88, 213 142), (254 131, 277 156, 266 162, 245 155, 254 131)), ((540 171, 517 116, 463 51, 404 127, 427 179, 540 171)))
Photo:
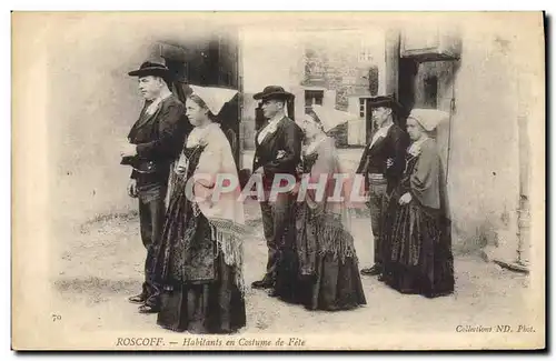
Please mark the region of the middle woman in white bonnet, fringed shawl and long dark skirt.
MULTIPOLYGON (((310 177, 310 183, 321 176, 326 182, 321 197, 315 189, 298 190, 295 232, 281 250, 274 295, 308 310, 339 311, 366 304, 347 207, 339 198, 329 199, 335 195, 334 176, 342 172, 335 140, 326 132, 340 121, 334 111, 318 106, 297 121, 306 137, 300 173, 310 177)), ((344 192, 340 195, 347 198, 344 192)))

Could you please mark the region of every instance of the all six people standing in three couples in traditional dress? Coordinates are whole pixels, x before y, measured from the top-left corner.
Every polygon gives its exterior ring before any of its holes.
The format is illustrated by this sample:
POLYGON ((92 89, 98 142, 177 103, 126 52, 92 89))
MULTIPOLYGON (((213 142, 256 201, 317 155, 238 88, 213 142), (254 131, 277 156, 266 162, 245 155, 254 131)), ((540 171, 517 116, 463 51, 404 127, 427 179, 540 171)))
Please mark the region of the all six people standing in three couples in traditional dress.
MULTIPOLYGON (((242 243, 249 230, 237 197, 240 187, 211 195, 217 174, 238 178, 218 124, 220 110, 237 91, 190 86, 183 104, 169 90, 163 64, 145 62, 129 74, 138 77, 146 102, 120 156, 132 167, 128 192, 139 199, 147 249, 142 291, 129 301, 140 304, 141 313, 158 313, 157 323, 166 329, 236 332, 246 325, 242 243), (206 174, 215 177, 199 177, 206 174)), ((360 273, 379 275, 404 293, 451 293, 445 178, 429 137, 434 117, 414 110, 406 132, 393 121, 395 100, 375 99, 379 128, 357 170, 371 211, 375 264, 359 273, 348 205, 326 197, 338 189, 335 174, 342 173, 335 140, 327 134, 339 123, 318 106, 291 120, 286 114, 291 97, 276 86, 255 94, 268 120, 256 134, 252 164, 265 193, 259 202, 268 260, 265 275, 251 287, 328 311, 366 304, 360 273), (324 177, 325 197, 316 189, 298 197, 295 187, 270 200, 277 174, 324 177)))

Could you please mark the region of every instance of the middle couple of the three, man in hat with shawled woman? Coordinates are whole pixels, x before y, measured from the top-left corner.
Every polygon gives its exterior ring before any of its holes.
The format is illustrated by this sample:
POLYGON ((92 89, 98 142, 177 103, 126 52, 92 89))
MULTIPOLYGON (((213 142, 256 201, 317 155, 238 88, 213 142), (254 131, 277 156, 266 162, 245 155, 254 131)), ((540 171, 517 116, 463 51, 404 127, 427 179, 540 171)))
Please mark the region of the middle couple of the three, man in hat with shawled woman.
POLYGON ((341 170, 335 140, 326 132, 338 123, 322 117, 318 107, 292 121, 285 113, 292 94, 281 87, 266 87, 254 97, 268 119, 256 134, 254 159, 254 172, 262 174, 265 193, 271 193, 277 174, 324 177, 326 185, 320 197, 317 189, 308 189, 299 200, 292 190, 277 194, 271 202, 260 202, 268 262, 262 279, 251 287, 269 289, 271 297, 309 310, 365 304, 346 204, 329 201, 336 189, 334 176, 341 170))

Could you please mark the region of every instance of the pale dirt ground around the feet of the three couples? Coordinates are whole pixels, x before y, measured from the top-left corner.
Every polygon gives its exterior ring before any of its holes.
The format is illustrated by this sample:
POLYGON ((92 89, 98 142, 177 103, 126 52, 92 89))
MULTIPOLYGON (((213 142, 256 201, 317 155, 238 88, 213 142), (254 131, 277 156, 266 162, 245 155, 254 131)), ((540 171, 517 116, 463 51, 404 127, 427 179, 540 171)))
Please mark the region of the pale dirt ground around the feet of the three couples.
MULTIPOLYGON (((266 244, 258 208, 247 209, 260 237, 246 244, 246 282, 265 269, 266 244)), ((353 222, 360 264, 373 259, 370 223, 365 214, 353 222)), ((145 249, 137 214, 115 215, 81 225, 60 241, 56 254, 53 287, 64 327, 81 331, 162 331, 156 315, 139 314, 127 298, 140 290, 145 249)), ((264 291, 246 295, 247 327, 241 332, 395 332, 411 330, 454 331, 458 324, 507 323, 523 313, 527 277, 474 257, 456 258, 454 295, 426 299, 403 295, 364 277, 367 305, 345 312, 309 312, 269 298, 264 291)))

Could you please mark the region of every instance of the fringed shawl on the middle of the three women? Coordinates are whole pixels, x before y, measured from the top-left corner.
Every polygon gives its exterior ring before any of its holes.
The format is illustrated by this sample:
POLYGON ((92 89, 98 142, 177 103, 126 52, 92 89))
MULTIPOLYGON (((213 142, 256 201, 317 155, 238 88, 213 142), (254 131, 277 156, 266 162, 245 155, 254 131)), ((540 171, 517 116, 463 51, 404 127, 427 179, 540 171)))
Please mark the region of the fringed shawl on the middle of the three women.
MULTIPOLYGON (((325 139, 315 150, 317 159, 310 170, 310 182, 318 182, 321 174, 327 174, 324 197, 316 199, 316 190, 307 190, 305 202, 309 217, 308 223, 314 224, 316 237, 299 237, 298 250, 301 252, 316 250, 319 255, 332 254, 334 259, 345 262, 346 258, 356 258, 354 238, 350 234, 349 217, 347 209, 347 192, 341 188, 344 201, 329 200, 336 189, 337 180, 335 173, 342 173, 339 164, 335 141, 331 138, 325 139), (315 239, 316 247, 312 244, 300 244, 315 239)), ((335 194, 334 194, 335 195, 335 194)), ((311 252, 312 253, 312 252, 311 252)), ((309 262, 301 264, 301 269, 312 269, 315 254, 306 254, 300 258, 309 262)))

